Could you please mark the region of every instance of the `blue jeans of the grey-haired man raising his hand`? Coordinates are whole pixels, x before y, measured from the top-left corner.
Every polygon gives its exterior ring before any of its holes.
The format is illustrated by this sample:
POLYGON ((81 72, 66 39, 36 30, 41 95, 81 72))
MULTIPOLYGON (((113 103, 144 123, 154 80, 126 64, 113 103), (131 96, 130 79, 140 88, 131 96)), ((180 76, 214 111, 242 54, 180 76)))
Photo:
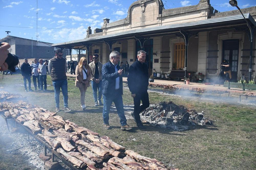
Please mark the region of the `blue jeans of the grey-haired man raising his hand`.
POLYGON ((111 107, 112 102, 115 103, 115 107, 118 113, 118 116, 120 118, 120 124, 121 126, 126 125, 126 118, 124 115, 124 105, 123 105, 123 98, 122 95, 110 95, 110 96, 105 96, 103 94, 103 112, 102 112, 102 117, 103 117, 103 122, 104 124, 109 124, 109 109, 111 107))

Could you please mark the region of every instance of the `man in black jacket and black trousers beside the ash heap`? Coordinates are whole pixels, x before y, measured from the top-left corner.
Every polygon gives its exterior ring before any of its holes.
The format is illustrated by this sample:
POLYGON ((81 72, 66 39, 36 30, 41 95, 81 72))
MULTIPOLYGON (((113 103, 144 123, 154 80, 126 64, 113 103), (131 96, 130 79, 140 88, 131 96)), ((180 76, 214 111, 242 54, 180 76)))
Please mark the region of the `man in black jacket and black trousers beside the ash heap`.
POLYGON ((141 122, 140 112, 149 107, 148 99, 148 68, 145 63, 146 52, 137 52, 137 60, 130 66, 127 78, 128 87, 132 93, 134 112, 132 113, 139 128, 145 128, 141 122), (140 106, 142 101, 142 105, 140 106))

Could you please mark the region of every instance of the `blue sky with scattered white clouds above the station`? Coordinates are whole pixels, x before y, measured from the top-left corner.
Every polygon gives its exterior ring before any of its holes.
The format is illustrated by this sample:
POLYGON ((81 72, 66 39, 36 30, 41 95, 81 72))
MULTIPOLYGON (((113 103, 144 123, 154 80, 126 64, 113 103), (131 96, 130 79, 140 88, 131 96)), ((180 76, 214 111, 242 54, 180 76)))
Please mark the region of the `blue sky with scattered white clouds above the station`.
MULTIPOLYGON (((91 26, 101 28, 104 18, 110 22, 123 19, 134 0, 38 0, 38 41, 61 43, 86 37, 91 26)), ((228 0, 212 0, 220 12, 235 10, 228 0)), ((163 0, 165 9, 197 5, 199 0, 163 0)), ((238 0, 240 8, 256 6, 255 0, 238 0)), ((9 35, 36 40, 36 0, 0 0, 0 38, 9 35), (8 26, 8 27, 7 27, 8 26)))

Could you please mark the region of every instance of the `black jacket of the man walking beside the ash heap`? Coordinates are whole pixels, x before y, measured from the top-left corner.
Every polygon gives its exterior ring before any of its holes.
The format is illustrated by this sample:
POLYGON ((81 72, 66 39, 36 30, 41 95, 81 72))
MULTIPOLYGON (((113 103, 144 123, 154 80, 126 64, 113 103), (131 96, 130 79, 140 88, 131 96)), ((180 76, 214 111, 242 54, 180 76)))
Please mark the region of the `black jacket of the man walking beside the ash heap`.
POLYGON ((128 87, 132 94, 143 93, 148 88, 148 68, 146 63, 136 60, 129 68, 128 87))

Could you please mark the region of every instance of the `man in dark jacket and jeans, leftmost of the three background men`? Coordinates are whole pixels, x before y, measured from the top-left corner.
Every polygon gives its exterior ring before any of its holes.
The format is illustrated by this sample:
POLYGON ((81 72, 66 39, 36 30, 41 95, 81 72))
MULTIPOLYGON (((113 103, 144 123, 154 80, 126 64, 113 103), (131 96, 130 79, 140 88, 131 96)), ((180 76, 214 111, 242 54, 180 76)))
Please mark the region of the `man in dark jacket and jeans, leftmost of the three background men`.
POLYGON ((21 75, 23 76, 23 81, 24 81, 24 87, 25 87, 25 91, 33 91, 31 89, 31 76, 32 76, 32 72, 31 72, 31 66, 28 63, 28 59, 24 59, 24 63, 20 66, 20 71, 21 71, 21 75), (28 90, 27 90, 27 80, 28 80, 28 90))

